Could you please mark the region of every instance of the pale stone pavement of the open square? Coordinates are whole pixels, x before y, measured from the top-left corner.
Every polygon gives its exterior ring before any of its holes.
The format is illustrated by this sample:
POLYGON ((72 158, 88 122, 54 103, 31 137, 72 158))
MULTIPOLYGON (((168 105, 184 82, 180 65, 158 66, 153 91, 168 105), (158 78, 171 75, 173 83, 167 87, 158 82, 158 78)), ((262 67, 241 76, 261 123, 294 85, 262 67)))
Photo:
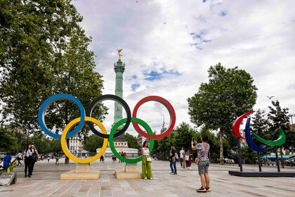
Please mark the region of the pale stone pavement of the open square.
MULTIPOLYGON (((64 160, 61 160, 64 163, 64 160)), ((35 164, 33 176, 24 178, 24 165, 17 167, 18 181, 11 186, 0 186, 0 196, 295 196, 295 177, 235 177, 228 170, 239 170, 237 166, 211 164, 210 193, 197 193, 200 180, 197 166, 183 170, 177 163, 178 174, 170 173, 169 162, 152 161, 153 180, 115 179, 114 169, 124 169, 125 163, 91 163, 100 169, 100 179, 60 180, 60 174, 74 170, 76 164, 55 165, 55 160, 35 164)), ((141 163, 138 163, 141 169, 141 163)), ((258 170, 256 165, 243 165, 244 170, 258 170)), ((264 171, 275 171, 275 167, 263 167, 264 171)), ((295 171, 282 169, 282 171, 295 171)))

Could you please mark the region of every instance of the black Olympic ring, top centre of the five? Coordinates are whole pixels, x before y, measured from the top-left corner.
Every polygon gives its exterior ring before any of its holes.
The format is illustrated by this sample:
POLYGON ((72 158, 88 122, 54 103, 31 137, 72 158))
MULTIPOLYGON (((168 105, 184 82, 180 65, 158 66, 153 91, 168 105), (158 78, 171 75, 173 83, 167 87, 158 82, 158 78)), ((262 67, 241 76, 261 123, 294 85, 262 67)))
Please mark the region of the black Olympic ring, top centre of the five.
MULTIPOLYGON (((128 127, 130 125, 130 122, 131 122, 131 111, 130 111, 130 108, 129 108, 128 104, 123 100, 123 98, 121 98, 119 96, 116 96, 116 95, 113 95, 113 94, 105 94, 103 96, 98 96, 98 98, 94 99, 90 103, 89 107, 87 108, 86 116, 91 117, 91 113, 92 113, 93 108, 98 103, 100 103, 101 101, 105 101, 105 100, 117 101, 126 110, 126 114, 127 114, 126 124, 125 124, 125 126, 121 130, 119 130, 119 132, 117 132, 117 133, 114 134, 114 138, 116 138, 117 136, 120 136, 120 135, 124 134, 124 132, 126 132, 126 130, 128 129, 128 127)), ((89 128, 91 129, 91 131, 94 134, 96 134, 97 136, 100 136, 102 138, 107 138, 107 139, 109 138, 110 134, 103 134, 103 133, 99 132, 98 130, 96 130, 93 127, 93 122, 88 122, 87 121, 86 123, 87 123, 87 125, 89 125, 89 128)))

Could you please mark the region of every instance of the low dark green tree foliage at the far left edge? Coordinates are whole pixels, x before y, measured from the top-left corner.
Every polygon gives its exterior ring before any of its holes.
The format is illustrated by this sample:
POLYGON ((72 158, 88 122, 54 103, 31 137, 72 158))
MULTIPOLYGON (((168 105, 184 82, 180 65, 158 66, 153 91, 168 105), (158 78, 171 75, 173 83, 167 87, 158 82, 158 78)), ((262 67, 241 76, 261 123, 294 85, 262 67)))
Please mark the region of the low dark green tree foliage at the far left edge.
POLYGON ((20 150, 20 144, 13 132, 7 128, 0 128, 0 152, 11 151, 11 154, 20 150))

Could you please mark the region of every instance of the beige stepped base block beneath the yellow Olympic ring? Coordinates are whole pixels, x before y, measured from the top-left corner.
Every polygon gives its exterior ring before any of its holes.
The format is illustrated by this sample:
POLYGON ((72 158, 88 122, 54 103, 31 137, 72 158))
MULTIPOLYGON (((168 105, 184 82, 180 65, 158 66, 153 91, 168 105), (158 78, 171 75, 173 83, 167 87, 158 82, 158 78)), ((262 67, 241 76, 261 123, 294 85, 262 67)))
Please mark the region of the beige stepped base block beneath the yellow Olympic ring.
POLYGON ((77 165, 76 170, 60 174, 60 180, 99 179, 100 170, 91 170, 90 165, 77 165))

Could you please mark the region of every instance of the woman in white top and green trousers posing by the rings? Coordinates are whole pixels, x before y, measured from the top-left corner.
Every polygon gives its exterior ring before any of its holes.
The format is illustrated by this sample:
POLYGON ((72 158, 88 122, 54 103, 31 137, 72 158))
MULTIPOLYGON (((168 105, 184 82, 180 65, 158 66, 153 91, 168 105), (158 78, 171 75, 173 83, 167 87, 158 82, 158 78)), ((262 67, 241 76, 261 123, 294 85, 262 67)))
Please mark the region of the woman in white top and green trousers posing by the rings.
POLYGON ((143 148, 141 148, 141 161, 142 167, 141 171, 143 172, 143 179, 153 179, 152 178, 152 158, 150 158, 150 148, 148 147, 147 141, 143 142, 143 148))

